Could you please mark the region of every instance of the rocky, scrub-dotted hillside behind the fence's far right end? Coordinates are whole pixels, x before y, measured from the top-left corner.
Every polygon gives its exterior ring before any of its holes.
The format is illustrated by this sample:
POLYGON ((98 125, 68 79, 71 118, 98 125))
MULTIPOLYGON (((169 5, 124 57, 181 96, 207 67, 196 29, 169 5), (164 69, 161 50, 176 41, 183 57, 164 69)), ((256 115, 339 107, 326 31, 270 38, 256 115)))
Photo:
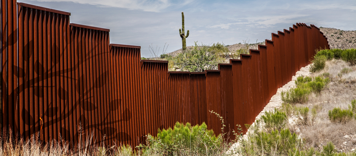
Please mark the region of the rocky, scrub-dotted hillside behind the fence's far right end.
POLYGON ((356 31, 343 31, 323 27, 320 27, 320 31, 328 38, 330 49, 356 48, 356 31))

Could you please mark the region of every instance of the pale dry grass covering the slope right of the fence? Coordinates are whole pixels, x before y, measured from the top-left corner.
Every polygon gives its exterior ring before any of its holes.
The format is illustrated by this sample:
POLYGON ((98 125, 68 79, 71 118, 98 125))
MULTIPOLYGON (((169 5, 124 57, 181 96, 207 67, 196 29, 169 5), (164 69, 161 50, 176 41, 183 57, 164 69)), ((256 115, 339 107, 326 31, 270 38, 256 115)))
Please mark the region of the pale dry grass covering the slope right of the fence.
MULTIPOLYGON (((309 107, 309 110, 316 106, 319 108, 316 109, 315 121, 308 125, 296 124, 289 127, 304 138, 306 149, 314 147, 321 150, 323 145, 332 141, 339 152, 356 150, 356 120, 352 119, 346 124, 340 124, 331 123, 328 117, 329 110, 335 107, 348 109, 351 100, 356 99, 355 66, 351 67, 342 60, 330 60, 326 61, 324 70, 315 72, 311 76, 319 76, 325 72, 329 73, 331 82, 320 95, 310 95, 309 101, 303 104, 304 107, 309 107), (351 70, 348 73, 341 73, 344 68, 351 70)), ((311 112, 309 114, 311 115, 311 112)))

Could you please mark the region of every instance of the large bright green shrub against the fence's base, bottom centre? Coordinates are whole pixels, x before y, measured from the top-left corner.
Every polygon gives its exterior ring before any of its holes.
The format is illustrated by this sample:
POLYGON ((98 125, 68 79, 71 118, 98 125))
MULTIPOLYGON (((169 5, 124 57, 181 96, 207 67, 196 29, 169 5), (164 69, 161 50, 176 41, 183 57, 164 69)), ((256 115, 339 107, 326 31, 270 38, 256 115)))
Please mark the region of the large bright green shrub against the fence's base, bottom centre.
POLYGON ((177 122, 174 128, 158 130, 157 137, 147 136, 148 151, 159 155, 213 155, 219 152, 221 137, 216 137, 213 130, 208 130, 205 123, 191 126, 177 122), (220 138, 220 139, 219 139, 220 138), (189 152, 188 152, 189 154, 189 152))

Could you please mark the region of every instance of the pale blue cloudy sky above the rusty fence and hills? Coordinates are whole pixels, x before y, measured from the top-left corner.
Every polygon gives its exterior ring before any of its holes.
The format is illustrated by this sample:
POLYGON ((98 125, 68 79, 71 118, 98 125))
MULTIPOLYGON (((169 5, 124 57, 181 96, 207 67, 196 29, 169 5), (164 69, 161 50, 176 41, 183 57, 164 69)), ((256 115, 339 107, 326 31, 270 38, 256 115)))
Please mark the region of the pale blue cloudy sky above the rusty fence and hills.
MULTIPOLYGON (((295 23, 356 30, 355 0, 18 0, 71 12, 70 22, 110 29, 110 43, 141 46, 150 57, 149 45, 168 44, 168 52, 182 48, 179 28, 182 14, 187 46, 231 45, 271 39, 295 23)), ((158 49, 157 49, 158 50, 158 49)))

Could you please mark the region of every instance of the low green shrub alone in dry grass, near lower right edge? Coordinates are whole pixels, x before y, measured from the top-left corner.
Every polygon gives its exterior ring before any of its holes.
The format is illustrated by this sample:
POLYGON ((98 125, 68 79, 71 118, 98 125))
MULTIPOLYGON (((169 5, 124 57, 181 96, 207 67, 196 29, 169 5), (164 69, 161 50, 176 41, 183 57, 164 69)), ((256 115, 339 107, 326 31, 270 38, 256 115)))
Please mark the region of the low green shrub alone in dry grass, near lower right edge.
POLYGON ((350 109, 334 108, 329 111, 329 119, 333 123, 346 123, 349 122, 354 113, 350 109))

